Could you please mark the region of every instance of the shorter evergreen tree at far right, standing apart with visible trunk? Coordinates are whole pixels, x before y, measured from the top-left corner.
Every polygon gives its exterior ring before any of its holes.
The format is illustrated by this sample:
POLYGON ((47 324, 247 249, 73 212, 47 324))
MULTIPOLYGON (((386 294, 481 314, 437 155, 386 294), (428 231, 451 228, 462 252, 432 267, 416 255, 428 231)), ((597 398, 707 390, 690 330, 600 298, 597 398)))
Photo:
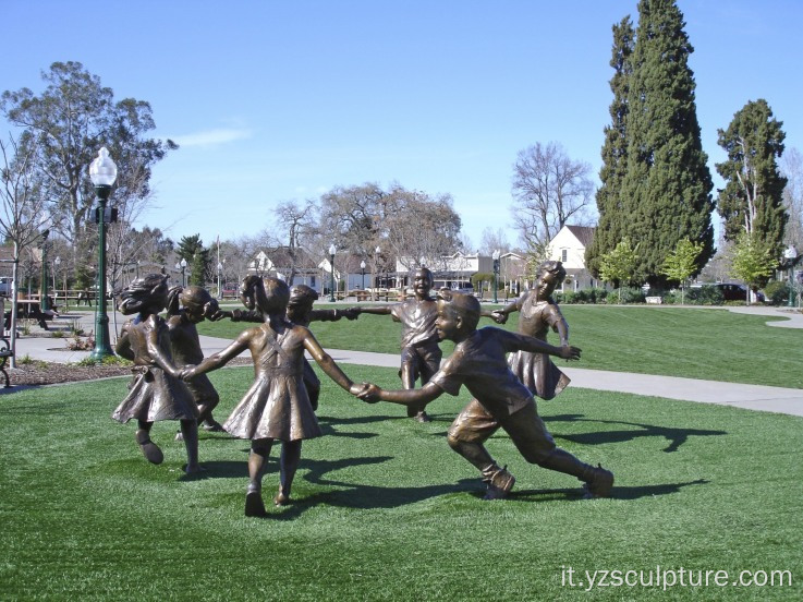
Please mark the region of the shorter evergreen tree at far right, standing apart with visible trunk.
POLYGON ((728 130, 717 131, 719 145, 728 153, 728 160, 717 164, 726 180, 718 202, 725 237, 735 240, 740 232, 754 234, 776 257, 780 257, 789 220, 783 206, 787 178, 776 160, 783 154, 781 125, 767 101, 759 98, 738 111, 728 130))

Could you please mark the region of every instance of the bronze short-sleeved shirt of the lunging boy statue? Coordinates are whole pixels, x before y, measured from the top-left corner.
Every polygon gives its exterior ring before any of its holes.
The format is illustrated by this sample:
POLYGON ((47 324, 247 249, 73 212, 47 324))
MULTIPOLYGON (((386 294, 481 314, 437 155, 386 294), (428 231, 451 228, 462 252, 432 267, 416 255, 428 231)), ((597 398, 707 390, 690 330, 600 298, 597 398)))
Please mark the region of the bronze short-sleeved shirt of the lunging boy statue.
POLYGON ((504 354, 519 349, 521 335, 486 327, 454 347, 431 381, 450 395, 461 385, 495 418, 508 417, 532 402, 533 394, 508 368, 504 354))

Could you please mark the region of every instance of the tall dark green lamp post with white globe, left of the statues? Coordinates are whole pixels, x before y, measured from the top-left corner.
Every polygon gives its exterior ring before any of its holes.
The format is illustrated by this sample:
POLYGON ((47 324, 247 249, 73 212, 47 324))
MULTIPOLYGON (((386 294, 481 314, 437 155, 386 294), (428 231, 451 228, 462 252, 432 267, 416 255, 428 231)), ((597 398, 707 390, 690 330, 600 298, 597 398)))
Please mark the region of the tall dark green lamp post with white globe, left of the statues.
POLYGON ((90 358, 99 362, 112 356, 109 346, 109 315, 106 313, 106 202, 117 180, 117 166, 104 146, 89 165, 89 178, 98 196, 98 304, 95 312, 95 349, 90 358))

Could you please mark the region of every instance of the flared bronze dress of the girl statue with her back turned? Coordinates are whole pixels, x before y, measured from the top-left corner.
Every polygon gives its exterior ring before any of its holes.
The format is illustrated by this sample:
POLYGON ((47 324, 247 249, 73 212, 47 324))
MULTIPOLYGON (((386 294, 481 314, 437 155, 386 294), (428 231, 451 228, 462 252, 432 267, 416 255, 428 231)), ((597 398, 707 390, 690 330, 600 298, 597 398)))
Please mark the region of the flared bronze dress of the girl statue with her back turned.
POLYGON ((223 424, 235 437, 297 441, 323 434, 302 382, 303 341, 288 326, 276 339, 266 325, 257 327, 264 336, 261 347, 252 348, 254 384, 223 424))

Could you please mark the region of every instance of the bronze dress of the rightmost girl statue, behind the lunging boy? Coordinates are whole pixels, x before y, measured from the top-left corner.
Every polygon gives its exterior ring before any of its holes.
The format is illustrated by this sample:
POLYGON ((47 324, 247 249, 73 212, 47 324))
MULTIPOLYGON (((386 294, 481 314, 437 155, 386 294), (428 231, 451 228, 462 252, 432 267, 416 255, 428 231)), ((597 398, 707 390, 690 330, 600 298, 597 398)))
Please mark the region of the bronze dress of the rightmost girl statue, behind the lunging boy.
MULTIPOLYGON (((519 308, 519 332, 547 340, 547 333, 559 320, 563 320, 558 305, 551 301, 538 301, 527 294, 519 308)), ((552 399, 570 383, 569 376, 555 365, 547 353, 515 351, 508 356, 508 366, 530 392, 540 399, 552 399)))

